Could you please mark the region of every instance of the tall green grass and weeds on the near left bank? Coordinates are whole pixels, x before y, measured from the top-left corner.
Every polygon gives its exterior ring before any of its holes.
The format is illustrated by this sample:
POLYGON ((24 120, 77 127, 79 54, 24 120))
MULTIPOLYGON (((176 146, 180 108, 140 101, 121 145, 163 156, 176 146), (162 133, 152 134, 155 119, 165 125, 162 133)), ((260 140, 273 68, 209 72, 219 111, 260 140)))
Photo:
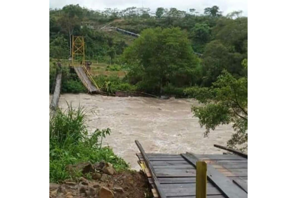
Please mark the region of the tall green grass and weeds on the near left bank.
MULTIPOLYGON (((65 111, 56 110, 50 116, 50 182, 77 179, 80 171, 69 172, 67 165, 79 162, 95 163, 104 160, 113 164, 115 170, 127 170, 129 165, 116 156, 109 147, 102 147, 110 129, 96 129, 91 135, 86 129, 86 114, 83 107, 73 109, 71 104, 65 111)), ((90 175, 85 175, 89 178, 90 175)))

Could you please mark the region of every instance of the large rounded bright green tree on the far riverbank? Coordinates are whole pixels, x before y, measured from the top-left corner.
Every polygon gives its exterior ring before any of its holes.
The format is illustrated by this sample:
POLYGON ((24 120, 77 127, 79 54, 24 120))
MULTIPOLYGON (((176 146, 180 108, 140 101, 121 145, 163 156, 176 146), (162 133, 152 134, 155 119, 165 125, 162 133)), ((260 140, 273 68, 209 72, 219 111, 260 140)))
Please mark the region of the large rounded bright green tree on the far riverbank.
POLYGON ((184 34, 180 28, 142 31, 124 50, 124 61, 130 66, 128 76, 137 77, 139 83, 159 94, 163 85, 178 84, 181 76, 185 84, 194 83, 199 77, 199 62, 184 34))

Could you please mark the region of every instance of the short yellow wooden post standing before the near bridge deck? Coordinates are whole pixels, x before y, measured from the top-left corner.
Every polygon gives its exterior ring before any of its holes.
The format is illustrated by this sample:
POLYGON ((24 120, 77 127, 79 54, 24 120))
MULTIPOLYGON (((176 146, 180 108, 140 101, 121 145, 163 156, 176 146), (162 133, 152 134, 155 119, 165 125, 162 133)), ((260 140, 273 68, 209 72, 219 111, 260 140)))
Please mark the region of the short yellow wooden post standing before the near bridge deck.
POLYGON ((196 198, 206 198, 207 164, 196 162, 196 198))

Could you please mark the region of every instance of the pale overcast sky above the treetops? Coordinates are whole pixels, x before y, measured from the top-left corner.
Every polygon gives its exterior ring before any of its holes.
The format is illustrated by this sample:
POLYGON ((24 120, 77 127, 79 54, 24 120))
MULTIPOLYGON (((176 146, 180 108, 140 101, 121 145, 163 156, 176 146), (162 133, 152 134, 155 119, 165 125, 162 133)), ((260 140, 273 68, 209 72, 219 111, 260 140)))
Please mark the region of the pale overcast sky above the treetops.
POLYGON ((200 14, 203 9, 213 5, 219 6, 223 15, 232 11, 242 10, 243 16, 247 16, 247 0, 50 0, 50 8, 62 8, 68 4, 79 4, 93 10, 104 8, 125 9, 127 7, 148 7, 154 11, 157 7, 175 7, 180 10, 195 8, 200 14))

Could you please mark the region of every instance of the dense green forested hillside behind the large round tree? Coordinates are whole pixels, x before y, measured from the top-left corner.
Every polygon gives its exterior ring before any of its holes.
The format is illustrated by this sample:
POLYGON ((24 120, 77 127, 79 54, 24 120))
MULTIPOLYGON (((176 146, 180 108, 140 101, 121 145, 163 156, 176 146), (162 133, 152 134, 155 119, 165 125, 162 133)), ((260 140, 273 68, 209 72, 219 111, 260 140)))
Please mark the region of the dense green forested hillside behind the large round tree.
MULTIPOLYGON (((168 28, 180 28, 183 39, 189 38, 192 49, 203 54, 198 69, 201 76, 198 75, 199 80, 195 82, 198 85, 211 86, 224 69, 236 78, 247 74, 247 69, 241 66, 241 61, 247 58, 247 17, 241 17, 241 11, 223 16, 217 6, 205 8, 203 14, 198 14, 195 9, 184 12, 163 7, 157 8, 156 12, 136 7, 95 11, 79 5, 50 9, 50 57, 66 59, 71 50, 69 35, 73 34, 84 36, 86 59, 123 64, 120 57, 124 49, 137 44, 133 44, 133 38, 119 32, 99 30, 107 24, 140 35, 149 31, 143 31, 148 28, 151 32, 160 31, 151 28, 165 28, 168 35, 163 37, 170 37, 168 28)), ((143 91, 156 90, 155 83, 151 85, 143 91)))

